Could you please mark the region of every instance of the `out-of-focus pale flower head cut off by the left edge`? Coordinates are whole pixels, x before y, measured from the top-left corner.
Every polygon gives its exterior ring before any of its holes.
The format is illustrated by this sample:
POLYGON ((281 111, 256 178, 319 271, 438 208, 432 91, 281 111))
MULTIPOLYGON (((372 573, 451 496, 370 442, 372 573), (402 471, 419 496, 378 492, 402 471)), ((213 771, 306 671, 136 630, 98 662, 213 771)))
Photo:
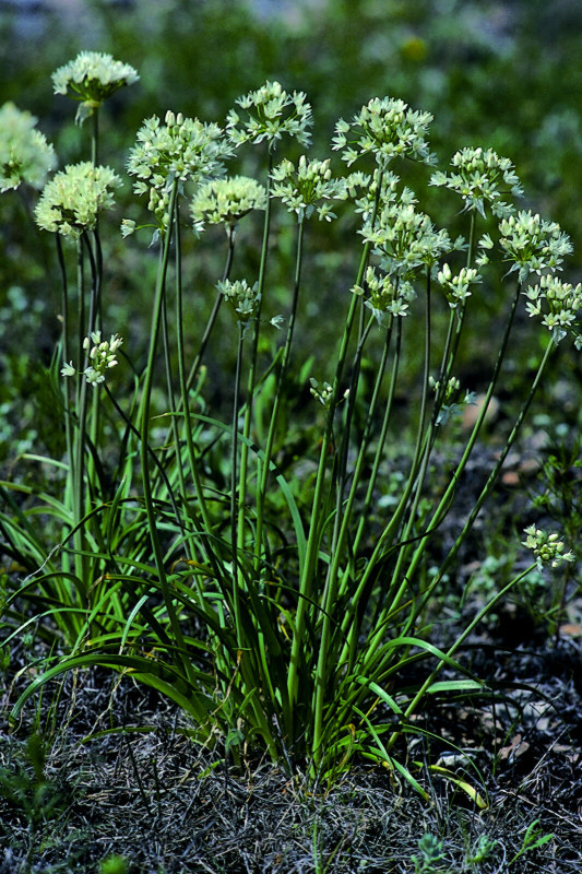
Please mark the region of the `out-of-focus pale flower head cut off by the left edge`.
POLYGON ((36 118, 13 103, 0 107, 0 191, 21 182, 41 188, 55 167, 55 150, 35 125, 36 118))

